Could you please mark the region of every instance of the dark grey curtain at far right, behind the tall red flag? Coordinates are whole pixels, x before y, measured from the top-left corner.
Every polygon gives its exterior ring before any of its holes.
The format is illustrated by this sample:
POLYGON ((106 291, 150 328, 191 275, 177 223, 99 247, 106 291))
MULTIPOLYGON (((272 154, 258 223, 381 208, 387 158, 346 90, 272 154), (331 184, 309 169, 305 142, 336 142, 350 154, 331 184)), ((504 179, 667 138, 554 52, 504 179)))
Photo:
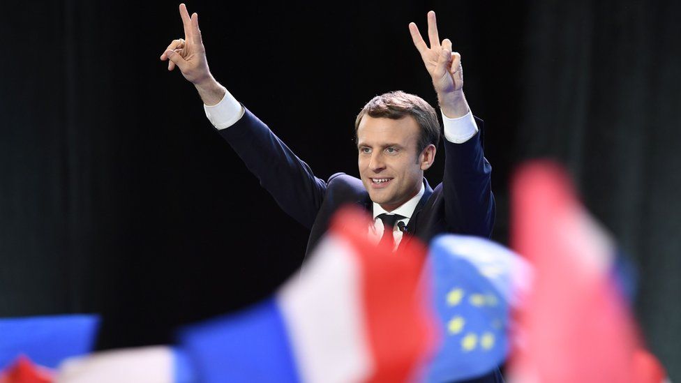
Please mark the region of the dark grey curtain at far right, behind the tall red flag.
POLYGON ((681 3, 534 1, 514 157, 567 165, 639 272, 648 345, 681 376, 681 3))

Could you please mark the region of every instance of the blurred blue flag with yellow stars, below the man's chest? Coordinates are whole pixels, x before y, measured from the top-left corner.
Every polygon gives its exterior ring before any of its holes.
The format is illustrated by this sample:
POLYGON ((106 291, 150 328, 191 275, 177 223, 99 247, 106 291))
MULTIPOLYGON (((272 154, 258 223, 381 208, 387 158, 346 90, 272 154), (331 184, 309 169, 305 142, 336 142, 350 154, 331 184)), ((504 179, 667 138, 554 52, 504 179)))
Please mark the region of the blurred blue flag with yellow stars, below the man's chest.
POLYGON ((433 303, 442 344, 428 382, 470 380, 495 370, 509 352, 509 308, 530 283, 530 266, 488 239, 454 234, 431 242, 433 303))

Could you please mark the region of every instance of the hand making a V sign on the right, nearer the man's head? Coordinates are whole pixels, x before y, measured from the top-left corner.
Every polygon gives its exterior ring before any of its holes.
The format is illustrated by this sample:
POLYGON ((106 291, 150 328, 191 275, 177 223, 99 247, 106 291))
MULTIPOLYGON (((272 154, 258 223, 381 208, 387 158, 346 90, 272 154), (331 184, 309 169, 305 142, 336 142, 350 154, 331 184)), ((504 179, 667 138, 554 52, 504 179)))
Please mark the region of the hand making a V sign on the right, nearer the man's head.
POLYGON ((433 79, 433 87, 440 100, 442 112, 448 117, 460 117, 468 112, 468 105, 463 97, 463 67, 461 66, 461 54, 451 52, 451 41, 445 38, 440 43, 437 35, 437 22, 435 12, 428 12, 428 40, 431 47, 426 45, 421 37, 419 28, 411 22, 409 31, 421 59, 426 64, 426 70, 433 79))

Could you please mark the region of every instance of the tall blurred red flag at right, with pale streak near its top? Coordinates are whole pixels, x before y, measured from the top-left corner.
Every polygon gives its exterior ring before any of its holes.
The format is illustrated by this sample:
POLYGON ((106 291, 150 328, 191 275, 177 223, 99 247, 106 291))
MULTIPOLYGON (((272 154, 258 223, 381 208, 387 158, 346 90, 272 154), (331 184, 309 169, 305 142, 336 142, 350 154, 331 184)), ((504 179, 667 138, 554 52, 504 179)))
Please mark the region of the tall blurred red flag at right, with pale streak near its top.
POLYGON ((517 312, 511 382, 660 382, 661 366, 641 350, 612 278, 613 243, 564 172, 551 163, 525 165, 512 193, 514 248, 534 278, 517 312))

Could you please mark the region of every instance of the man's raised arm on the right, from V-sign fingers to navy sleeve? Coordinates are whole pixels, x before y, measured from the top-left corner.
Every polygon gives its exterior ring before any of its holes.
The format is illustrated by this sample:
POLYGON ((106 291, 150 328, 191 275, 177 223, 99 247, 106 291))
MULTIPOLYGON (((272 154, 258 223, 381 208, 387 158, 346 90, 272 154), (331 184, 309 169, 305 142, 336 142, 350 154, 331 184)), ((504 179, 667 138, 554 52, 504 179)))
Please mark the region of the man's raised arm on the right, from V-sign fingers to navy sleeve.
POLYGON ((482 121, 476 121, 463 95, 461 54, 452 52, 451 41, 440 42, 435 12, 428 12, 428 39, 409 24, 414 45, 433 80, 444 124, 445 166, 442 184, 447 224, 455 232, 490 236, 495 216, 491 190, 491 166, 484 157, 482 121), (478 124, 480 124, 478 126, 478 124))

